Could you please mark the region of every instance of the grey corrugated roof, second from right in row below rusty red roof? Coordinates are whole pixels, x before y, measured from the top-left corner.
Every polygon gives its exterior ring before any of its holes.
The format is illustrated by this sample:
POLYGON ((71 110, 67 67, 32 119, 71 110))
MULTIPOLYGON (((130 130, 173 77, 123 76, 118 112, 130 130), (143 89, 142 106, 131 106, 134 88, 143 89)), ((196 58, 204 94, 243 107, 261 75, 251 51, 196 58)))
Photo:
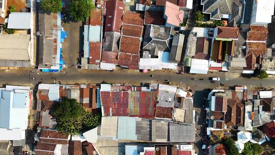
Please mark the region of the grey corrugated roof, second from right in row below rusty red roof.
POLYGON ((168 141, 168 122, 163 120, 152 120, 152 141, 167 142, 168 141))

